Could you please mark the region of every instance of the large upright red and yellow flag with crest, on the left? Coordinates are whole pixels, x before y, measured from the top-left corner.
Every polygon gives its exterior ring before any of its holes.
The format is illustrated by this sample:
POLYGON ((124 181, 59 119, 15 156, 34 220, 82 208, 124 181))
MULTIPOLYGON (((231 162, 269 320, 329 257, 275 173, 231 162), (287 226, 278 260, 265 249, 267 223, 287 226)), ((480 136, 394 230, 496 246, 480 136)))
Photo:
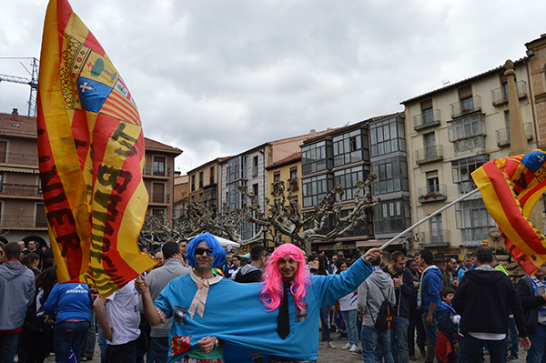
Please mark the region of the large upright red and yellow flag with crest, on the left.
POLYGON ((106 297, 156 262, 140 253, 147 210, 144 136, 125 82, 66 0, 45 14, 38 156, 60 282, 106 297))

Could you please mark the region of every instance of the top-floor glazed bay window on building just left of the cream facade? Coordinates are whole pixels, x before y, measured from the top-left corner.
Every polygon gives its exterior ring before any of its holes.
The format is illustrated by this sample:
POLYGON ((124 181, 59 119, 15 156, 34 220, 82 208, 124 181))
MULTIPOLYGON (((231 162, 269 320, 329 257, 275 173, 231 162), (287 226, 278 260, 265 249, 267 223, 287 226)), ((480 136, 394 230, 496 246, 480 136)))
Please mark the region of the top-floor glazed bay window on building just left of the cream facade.
POLYGON ((391 117, 369 125, 369 139, 372 157, 406 151, 404 123, 399 117, 391 117))

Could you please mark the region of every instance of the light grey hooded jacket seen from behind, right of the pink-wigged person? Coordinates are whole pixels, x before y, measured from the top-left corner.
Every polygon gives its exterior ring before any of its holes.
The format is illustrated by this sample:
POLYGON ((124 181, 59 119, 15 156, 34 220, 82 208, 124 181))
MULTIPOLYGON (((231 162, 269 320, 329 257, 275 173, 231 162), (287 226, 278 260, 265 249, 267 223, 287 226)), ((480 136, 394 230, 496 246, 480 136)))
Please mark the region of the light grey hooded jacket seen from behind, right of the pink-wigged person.
POLYGON ((364 311, 362 325, 374 326, 378 318, 379 308, 385 299, 390 305, 396 304, 394 295, 394 283, 381 269, 373 270, 373 273, 359 286, 357 306, 359 311, 364 311))

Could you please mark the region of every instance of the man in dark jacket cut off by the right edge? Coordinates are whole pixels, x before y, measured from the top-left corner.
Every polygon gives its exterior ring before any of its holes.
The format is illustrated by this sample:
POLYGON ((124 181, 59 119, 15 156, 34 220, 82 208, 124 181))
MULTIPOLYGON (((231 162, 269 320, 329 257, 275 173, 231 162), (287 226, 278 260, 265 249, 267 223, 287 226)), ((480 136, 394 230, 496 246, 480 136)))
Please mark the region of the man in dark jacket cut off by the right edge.
POLYGON ((546 265, 537 268, 533 277, 521 278, 516 287, 525 316, 531 348, 528 362, 541 362, 546 351, 546 265))

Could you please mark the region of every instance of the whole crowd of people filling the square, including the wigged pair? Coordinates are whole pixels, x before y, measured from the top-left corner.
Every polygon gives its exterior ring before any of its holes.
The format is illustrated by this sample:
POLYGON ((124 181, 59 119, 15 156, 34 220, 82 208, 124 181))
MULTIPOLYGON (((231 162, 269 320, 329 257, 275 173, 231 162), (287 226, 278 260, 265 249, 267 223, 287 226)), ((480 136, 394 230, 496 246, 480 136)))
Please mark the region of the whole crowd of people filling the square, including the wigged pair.
POLYGON ((206 233, 144 252, 157 266, 99 297, 57 283, 46 247, 0 242, 0 363, 90 360, 96 338, 103 363, 217 363, 227 343, 255 363, 313 362, 319 339, 336 349, 345 338, 343 354, 366 363, 417 352, 428 363, 505 362, 520 348, 546 362, 546 267, 514 286, 489 247, 462 261, 427 249, 307 256, 291 244, 237 255, 206 233))

